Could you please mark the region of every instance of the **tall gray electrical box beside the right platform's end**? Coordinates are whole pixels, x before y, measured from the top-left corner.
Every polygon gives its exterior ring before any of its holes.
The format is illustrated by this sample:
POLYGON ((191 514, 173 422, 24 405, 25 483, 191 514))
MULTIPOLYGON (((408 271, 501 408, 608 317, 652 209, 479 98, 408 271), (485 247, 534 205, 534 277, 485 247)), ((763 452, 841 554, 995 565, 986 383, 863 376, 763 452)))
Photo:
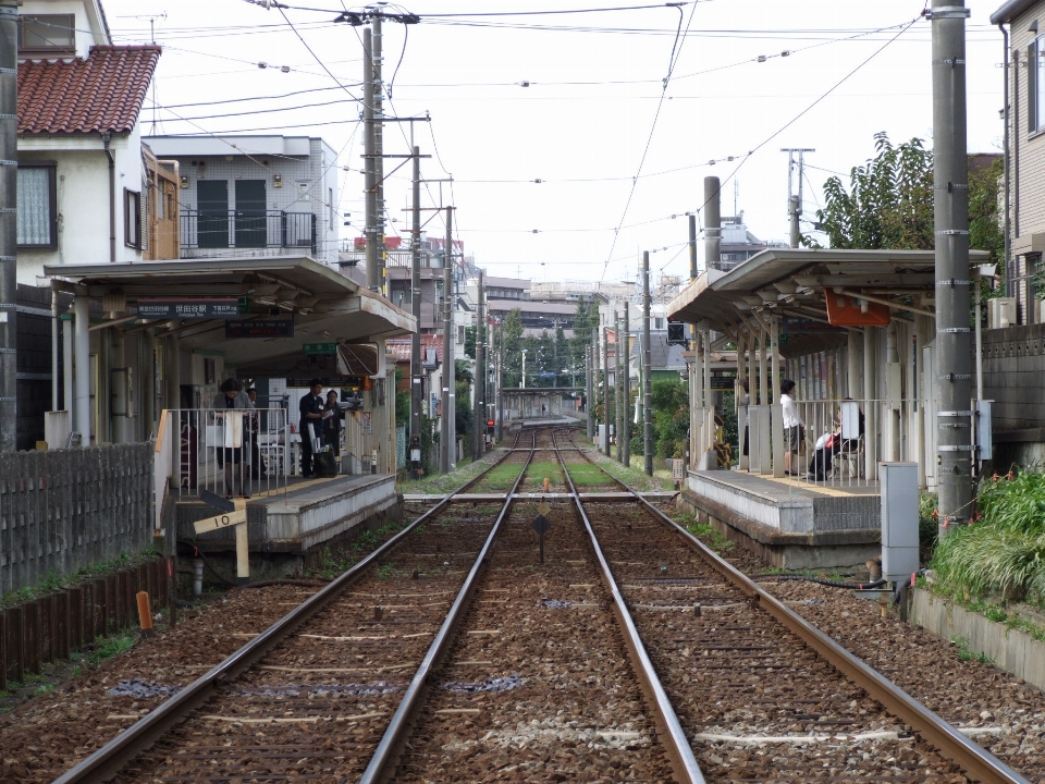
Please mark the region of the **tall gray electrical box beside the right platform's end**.
POLYGON ((882 463, 882 576, 892 583, 918 572, 918 463, 882 463))

